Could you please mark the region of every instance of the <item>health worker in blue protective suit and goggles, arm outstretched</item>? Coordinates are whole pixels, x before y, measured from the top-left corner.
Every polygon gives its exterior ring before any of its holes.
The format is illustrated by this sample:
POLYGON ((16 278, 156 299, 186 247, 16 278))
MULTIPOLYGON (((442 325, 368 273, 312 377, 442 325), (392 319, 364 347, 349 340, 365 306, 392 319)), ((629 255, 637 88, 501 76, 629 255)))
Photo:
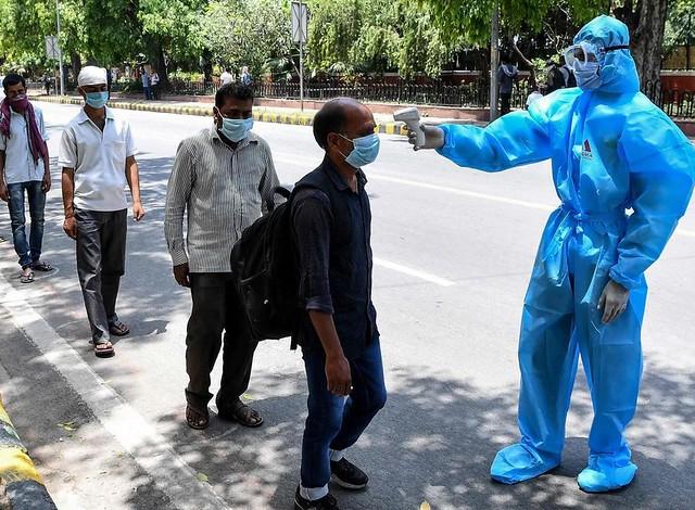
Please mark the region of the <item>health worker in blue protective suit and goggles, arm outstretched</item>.
MULTIPOLYGON (((519 365, 521 441, 497 452, 491 475, 513 484, 560 463, 581 354, 594 409, 586 492, 632 482, 624 431, 635 412, 645 270, 685 213, 695 154, 645 95, 628 28, 599 16, 566 51, 578 88, 558 90, 485 129, 420 126, 426 142, 464 167, 501 171, 552 160, 561 205, 551 214, 525 298, 519 365), (627 209, 632 209, 628 215, 627 209)), ((416 133, 410 132, 416 144, 416 133)))

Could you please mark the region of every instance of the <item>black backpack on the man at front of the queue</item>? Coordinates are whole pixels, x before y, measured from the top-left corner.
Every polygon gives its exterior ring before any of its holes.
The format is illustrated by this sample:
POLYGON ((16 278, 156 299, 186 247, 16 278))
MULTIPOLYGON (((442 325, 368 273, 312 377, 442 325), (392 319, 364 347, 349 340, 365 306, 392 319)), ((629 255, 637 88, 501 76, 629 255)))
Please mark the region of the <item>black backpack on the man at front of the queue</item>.
POLYGON ((243 231, 231 251, 235 286, 256 341, 290 336, 299 311, 292 195, 281 187, 275 193, 287 202, 269 203, 268 213, 243 231))

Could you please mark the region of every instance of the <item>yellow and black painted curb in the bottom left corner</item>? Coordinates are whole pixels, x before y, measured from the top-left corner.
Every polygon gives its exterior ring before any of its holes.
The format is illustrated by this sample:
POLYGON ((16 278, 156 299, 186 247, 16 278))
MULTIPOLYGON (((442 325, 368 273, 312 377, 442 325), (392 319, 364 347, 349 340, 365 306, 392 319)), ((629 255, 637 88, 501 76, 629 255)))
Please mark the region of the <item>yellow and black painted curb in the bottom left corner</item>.
MULTIPOLYGON (((0 482, 11 510, 56 510, 0 396, 0 482)), ((0 494, 0 498, 3 495, 0 494)), ((0 501, 2 502, 2 501, 0 501)))

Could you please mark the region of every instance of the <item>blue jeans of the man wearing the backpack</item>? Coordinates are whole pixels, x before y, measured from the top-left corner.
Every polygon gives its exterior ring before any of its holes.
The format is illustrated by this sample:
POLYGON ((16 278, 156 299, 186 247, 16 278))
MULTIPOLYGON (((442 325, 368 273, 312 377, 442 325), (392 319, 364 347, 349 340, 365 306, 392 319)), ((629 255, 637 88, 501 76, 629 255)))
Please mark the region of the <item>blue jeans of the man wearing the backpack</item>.
POLYGON ((302 442, 302 486, 324 487, 330 480, 329 449, 354 445, 387 403, 379 337, 350 361, 352 393, 348 398, 328 391, 323 350, 304 353, 308 384, 308 417, 302 442))

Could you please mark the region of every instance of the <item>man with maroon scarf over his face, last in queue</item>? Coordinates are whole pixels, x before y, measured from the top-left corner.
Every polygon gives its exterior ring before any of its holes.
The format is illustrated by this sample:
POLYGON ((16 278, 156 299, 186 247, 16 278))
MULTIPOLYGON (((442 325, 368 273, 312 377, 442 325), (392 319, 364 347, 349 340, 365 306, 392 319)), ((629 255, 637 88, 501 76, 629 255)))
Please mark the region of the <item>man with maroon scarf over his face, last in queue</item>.
POLYGON ((48 133, 41 110, 29 102, 26 81, 16 74, 2 80, 5 99, 0 104, 0 199, 8 203, 14 250, 20 257, 22 283, 34 282, 34 271, 50 271, 41 260, 43 209, 51 189, 48 133), (31 231, 27 242, 25 194, 31 231))

